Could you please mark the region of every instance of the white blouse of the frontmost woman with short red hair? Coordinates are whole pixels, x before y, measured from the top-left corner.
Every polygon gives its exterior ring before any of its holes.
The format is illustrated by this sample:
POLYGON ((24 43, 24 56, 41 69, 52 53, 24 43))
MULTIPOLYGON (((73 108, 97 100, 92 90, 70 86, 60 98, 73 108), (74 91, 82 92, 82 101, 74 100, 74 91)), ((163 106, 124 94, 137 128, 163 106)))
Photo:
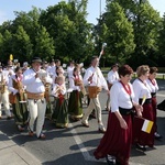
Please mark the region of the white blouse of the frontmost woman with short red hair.
POLYGON ((129 82, 131 89, 131 98, 130 95, 125 91, 122 84, 120 81, 116 82, 110 90, 110 100, 111 100, 111 111, 119 111, 119 107, 124 109, 131 109, 133 107, 131 99, 134 98, 134 92, 132 85, 129 82))

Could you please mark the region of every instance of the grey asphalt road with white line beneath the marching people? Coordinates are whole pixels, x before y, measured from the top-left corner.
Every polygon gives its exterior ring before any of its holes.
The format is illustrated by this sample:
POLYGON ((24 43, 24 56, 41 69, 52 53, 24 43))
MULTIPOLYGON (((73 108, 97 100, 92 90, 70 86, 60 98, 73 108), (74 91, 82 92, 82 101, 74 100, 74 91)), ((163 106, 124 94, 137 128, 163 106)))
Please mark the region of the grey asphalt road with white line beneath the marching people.
MULTIPOLYGON (((165 99, 165 80, 160 80, 157 102, 165 99)), ((105 110, 107 95, 100 94, 102 120, 107 127, 108 111, 105 110)), ((86 110, 86 106, 85 109, 86 110)), ((96 161, 94 151, 102 134, 98 133, 97 120, 89 120, 90 128, 81 127, 80 121, 70 122, 67 129, 56 129, 50 120, 45 121, 46 140, 30 138, 28 131, 20 133, 13 120, 0 120, 0 130, 18 145, 31 152, 43 165, 106 165, 106 160, 96 161)), ((155 141, 154 148, 141 152, 132 146, 130 163, 132 165, 165 165, 165 111, 157 110, 158 132, 164 138, 155 141)))

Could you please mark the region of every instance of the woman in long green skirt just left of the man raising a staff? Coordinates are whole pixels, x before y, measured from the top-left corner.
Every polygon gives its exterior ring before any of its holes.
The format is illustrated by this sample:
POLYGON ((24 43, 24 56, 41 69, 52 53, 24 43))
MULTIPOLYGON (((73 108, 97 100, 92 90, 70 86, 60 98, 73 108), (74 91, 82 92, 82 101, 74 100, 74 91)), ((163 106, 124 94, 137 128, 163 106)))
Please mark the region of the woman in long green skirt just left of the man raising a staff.
POLYGON ((75 67, 73 76, 69 79, 70 89, 73 90, 69 95, 68 100, 68 113, 73 120, 80 120, 82 118, 82 77, 80 75, 79 67, 75 67))

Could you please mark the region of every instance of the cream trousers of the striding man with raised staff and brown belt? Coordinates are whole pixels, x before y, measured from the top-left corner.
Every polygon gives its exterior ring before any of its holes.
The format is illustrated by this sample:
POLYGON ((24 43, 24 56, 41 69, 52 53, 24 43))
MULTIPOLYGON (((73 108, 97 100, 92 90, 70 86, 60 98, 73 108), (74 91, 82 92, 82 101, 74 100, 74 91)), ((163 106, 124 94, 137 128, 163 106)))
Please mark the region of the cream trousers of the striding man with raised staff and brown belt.
POLYGON ((89 118, 89 116, 94 109, 96 110, 96 117, 98 120, 98 125, 99 127, 103 125, 102 124, 101 106, 100 106, 100 101, 99 101, 99 95, 97 95, 97 98, 90 99, 89 106, 88 106, 88 108, 84 114, 82 122, 88 123, 88 118, 89 118))

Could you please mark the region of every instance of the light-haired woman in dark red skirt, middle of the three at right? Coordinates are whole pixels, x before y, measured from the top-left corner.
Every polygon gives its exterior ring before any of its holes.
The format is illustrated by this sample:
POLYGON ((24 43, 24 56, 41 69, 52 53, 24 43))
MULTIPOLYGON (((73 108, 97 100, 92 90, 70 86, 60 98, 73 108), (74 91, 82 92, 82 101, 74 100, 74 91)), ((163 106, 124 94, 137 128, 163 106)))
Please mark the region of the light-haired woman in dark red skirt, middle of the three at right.
MULTIPOLYGON (((147 65, 139 66, 136 69, 138 78, 133 81, 134 101, 143 106, 142 117, 154 122, 154 111, 152 107, 151 88, 146 84, 148 78, 150 68, 147 65)), ((136 144, 139 150, 145 151, 145 145, 153 147, 155 123, 150 133, 142 131, 144 120, 134 118, 133 122, 133 143, 136 144)))

